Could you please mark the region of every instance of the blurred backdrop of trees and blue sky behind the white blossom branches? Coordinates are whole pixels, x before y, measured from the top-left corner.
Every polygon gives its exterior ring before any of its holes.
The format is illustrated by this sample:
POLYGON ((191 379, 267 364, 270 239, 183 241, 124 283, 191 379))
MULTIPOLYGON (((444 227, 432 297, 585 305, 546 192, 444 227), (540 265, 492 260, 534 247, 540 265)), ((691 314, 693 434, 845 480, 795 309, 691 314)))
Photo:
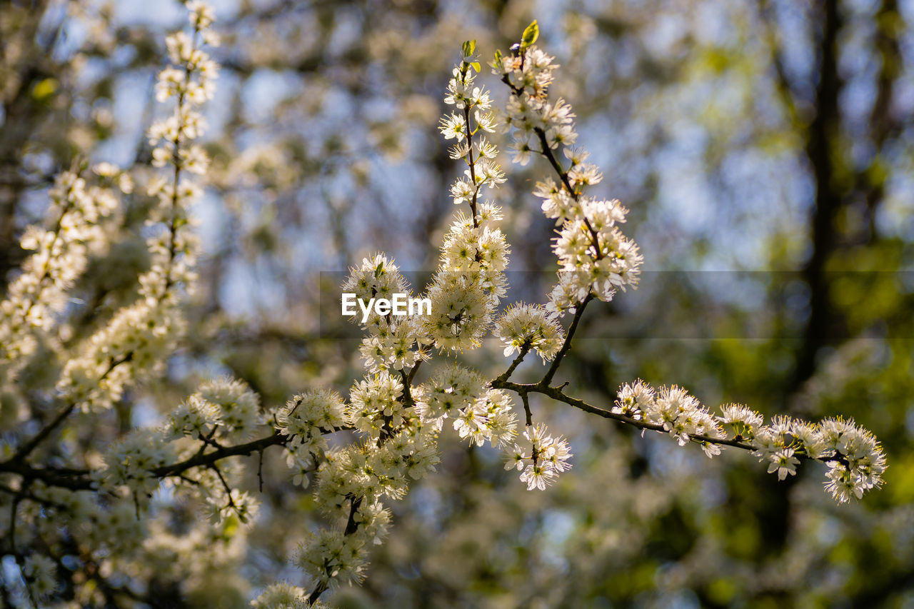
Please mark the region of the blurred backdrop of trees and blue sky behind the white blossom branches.
MULTIPOLYGON (((533 401, 537 419, 569 435, 572 472, 531 493, 493 452, 443 442, 440 475, 393 506, 365 585, 335 602, 914 606, 914 3, 213 4, 223 69, 207 110, 214 163, 197 209, 206 255, 191 331, 168 379, 130 392, 94 433, 155 424, 219 373, 270 404, 312 386, 347 390, 361 372, 357 343, 321 337, 320 273, 379 250, 409 271, 434 268, 458 170, 436 123, 459 45, 476 38, 485 59, 538 18, 540 43, 562 66, 553 92, 578 114, 579 144, 606 176, 600 194, 632 209, 626 232, 648 271, 637 292, 592 307, 560 374, 604 405, 641 377, 710 405, 845 413, 884 443, 887 486, 836 506, 815 465, 779 483, 749 454, 709 462, 533 401)), ((80 158, 149 161, 163 34, 184 18, 176 2, 0 5, 7 277, 56 172, 80 158)), ((553 226, 529 194, 546 174, 538 161, 513 167, 498 193, 515 271, 555 268, 553 226)), ((125 205, 121 239, 71 304, 83 314, 74 336, 95 327, 93 311, 121 305, 119 288, 148 263, 146 203, 125 205)), ((526 297, 542 300, 549 273, 525 277, 526 297)), ((467 359, 500 372, 489 347, 467 359)), ((223 531, 211 564, 166 568, 164 558, 160 606, 245 606, 266 582, 297 582, 286 559, 314 506, 282 457, 266 457, 255 528, 234 541, 223 531)), ((182 518, 201 518, 167 508, 175 533, 182 518)))

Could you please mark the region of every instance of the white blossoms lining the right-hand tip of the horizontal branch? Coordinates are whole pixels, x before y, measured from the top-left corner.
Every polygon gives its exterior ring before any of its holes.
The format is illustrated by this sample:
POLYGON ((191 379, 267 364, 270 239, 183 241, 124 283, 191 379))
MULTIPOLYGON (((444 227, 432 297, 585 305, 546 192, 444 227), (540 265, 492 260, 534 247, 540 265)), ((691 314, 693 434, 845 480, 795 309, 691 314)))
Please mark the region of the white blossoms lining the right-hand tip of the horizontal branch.
POLYGON ((759 412, 741 404, 726 404, 720 411, 711 414, 679 387, 654 390, 641 380, 622 385, 611 409, 670 433, 680 446, 699 443, 709 457, 726 445, 719 441, 733 441, 751 450, 768 465, 768 473, 781 480, 796 474, 800 458, 824 461, 829 466, 825 489, 840 503, 883 484, 886 455, 873 433, 853 421, 839 417, 814 423, 779 415, 766 425, 759 412))

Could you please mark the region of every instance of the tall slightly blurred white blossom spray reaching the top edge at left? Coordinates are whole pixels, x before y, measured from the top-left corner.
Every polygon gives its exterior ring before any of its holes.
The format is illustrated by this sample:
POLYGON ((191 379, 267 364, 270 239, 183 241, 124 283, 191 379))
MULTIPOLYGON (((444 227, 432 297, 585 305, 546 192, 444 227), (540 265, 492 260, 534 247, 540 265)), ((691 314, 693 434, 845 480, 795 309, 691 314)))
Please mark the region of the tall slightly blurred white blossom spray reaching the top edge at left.
POLYGON ((150 128, 153 163, 170 164, 174 171, 170 179, 161 176, 148 187, 158 204, 148 220, 155 230, 146 240, 152 262, 139 277, 141 299, 122 308, 90 337, 58 382, 58 390, 84 411, 110 407, 127 384, 160 370, 184 330, 177 307, 179 288, 189 288, 196 278, 192 269, 197 251, 187 210, 201 196, 199 185, 184 174, 203 174, 207 169, 206 153, 193 144, 203 129, 196 107, 212 97, 218 71, 199 48, 217 42, 208 29, 212 9, 200 2, 190 2, 187 8, 193 32, 166 38, 175 65, 162 70, 156 84, 157 99, 173 101, 174 108, 150 128))

